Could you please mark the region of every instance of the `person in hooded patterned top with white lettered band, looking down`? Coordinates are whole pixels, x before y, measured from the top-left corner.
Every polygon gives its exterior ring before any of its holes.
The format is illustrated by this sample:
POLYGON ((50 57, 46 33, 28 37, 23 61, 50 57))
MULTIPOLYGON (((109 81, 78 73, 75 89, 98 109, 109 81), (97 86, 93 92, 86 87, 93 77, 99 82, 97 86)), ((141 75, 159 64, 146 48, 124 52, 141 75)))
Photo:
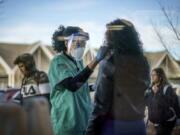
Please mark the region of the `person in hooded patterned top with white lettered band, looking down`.
POLYGON ((15 100, 20 100, 23 103, 24 100, 31 97, 45 97, 48 102, 50 98, 51 87, 49 84, 48 76, 45 72, 39 71, 36 68, 35 60, 32 54, 24 53, 19 55, 14 64, 19 67, 19 70, 23 74, 21 91, 15 100))

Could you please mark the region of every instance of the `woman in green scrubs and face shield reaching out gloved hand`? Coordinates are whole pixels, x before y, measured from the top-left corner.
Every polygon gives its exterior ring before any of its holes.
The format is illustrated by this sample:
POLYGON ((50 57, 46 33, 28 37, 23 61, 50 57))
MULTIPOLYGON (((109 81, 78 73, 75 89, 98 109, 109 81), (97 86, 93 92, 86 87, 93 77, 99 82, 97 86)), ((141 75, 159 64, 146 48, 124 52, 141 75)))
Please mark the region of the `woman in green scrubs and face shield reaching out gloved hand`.
POLYGON ((53 48, 59 53, 48 72, 53 131, 55 135, 84 135, 92 109, 87 79, 105 57, 107 47, 101 47, 84 68, 82 56, 88 33, 79 27, 60 26, 52 39, 53 48))

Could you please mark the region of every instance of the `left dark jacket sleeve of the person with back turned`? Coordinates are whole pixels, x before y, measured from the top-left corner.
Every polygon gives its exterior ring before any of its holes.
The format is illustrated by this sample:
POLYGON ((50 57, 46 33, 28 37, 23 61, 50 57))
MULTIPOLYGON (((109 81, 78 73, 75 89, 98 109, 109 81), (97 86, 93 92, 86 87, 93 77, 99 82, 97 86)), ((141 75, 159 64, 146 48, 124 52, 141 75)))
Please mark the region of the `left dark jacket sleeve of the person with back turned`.
POLYGON ((110 64, 106 62, 100 64, 96 81, 94 110, 89 119, 86 135, 100 135, 101 126, 110 111, 113 94, 113 76, 110 71, 112 71, 110 64))

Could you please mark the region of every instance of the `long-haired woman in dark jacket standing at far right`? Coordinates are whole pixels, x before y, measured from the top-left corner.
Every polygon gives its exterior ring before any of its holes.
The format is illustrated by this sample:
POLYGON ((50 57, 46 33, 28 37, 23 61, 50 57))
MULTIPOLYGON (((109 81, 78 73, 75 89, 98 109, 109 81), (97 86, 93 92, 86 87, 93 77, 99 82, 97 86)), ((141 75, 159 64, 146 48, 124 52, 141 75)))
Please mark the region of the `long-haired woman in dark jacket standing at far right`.
POLYGON ((151 81, 147 95, 149 120, 155 127, 156 135, 171 135, 180 113, 178 97, 162 68, 152 70, 151 81))

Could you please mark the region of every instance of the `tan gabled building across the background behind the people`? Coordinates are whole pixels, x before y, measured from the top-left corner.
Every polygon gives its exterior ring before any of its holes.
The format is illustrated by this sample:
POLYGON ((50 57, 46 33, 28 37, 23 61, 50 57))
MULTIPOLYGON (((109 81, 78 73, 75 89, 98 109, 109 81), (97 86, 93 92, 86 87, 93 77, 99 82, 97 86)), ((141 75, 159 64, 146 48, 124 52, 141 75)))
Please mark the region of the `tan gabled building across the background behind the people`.
MULTIPOLYGON (((14 59, 23 53, 31 53, 36 61, 39 70, 48 72, 51 59, 57 53, 52 46, 43 45, 41 42, 33 44, 10 44, 0 43, 0 88, 3 87, 20 87, 22 74, 17 66, 14 66, 14 59)), ((84 65, 90 63, 95 57, 97 50, 87 49, 84 56, 84 65)), ((151 69, 162 67, 168 79, 175 85, 180 85, 180 61, 172 58, 166 51, 145 52, 150 63, 151 69)), ((98 74, 98 67, 91 75, 89 82, 93 83, 98 74)))

